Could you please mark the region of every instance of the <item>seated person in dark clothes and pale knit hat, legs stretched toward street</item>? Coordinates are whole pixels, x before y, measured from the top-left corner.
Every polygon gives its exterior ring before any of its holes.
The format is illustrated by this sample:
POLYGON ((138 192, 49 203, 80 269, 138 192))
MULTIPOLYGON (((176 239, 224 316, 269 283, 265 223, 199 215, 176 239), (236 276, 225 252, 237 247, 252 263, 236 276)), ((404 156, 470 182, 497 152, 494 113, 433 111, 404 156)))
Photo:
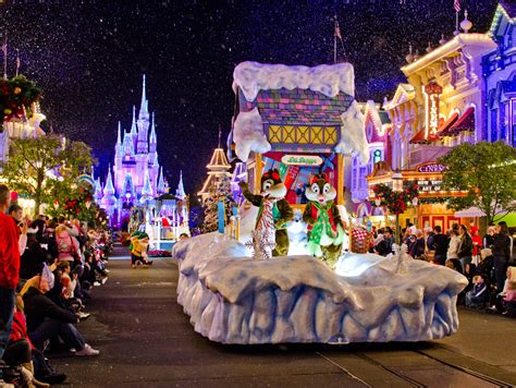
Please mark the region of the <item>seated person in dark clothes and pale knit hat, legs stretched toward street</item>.
POLYGON ((73 325, 78 322, 78 317, 45 295, 53 287, 53 274, 45 267, 38 278, 39 281, 33 282, 38 282, 37 287, 30 286, 27 290, 22 290, 28 336, 34 345, 42 350, 45 341, 59 337, 65 345, 75 350, 75 355, 98 355, 99 351, 87 344, 73 325))

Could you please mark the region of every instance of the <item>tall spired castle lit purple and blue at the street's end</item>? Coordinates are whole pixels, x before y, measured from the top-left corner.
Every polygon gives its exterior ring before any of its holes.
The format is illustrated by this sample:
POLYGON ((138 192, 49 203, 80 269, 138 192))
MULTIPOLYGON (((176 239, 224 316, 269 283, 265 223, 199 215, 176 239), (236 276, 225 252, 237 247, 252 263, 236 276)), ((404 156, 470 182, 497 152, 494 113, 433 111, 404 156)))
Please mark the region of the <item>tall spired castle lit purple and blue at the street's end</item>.
MULTIPOLYGON (((131 208, 151 203, 155 197, 169 192, 158 161, 155 114, 152 112, 150 121, 148 104, 144 75, 138 119, 133 106, 131 131, 124 131, 123 136, 119 121, 113 168, 110 165, 103 187, 99 178, 95 181, 95 198, 106 209, 112 225, 120 225, 130 215, 131 208)), ((175 196, 179 199, 185 197, 183 177, 180 178, 175 196)))

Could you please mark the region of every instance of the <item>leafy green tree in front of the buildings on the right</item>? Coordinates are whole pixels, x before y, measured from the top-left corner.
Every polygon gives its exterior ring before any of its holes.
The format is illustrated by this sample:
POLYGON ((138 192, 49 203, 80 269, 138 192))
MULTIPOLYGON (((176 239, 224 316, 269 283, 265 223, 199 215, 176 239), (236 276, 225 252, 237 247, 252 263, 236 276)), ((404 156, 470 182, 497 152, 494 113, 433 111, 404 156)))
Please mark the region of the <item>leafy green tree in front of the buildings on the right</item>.
POLYGON ((487 222, 500 221, 516 211, 516 148, 504 142, 463 143, 438 160, 446 166, 442 187, 465 196, 449 199, 449 207, 477 207, 487 222))

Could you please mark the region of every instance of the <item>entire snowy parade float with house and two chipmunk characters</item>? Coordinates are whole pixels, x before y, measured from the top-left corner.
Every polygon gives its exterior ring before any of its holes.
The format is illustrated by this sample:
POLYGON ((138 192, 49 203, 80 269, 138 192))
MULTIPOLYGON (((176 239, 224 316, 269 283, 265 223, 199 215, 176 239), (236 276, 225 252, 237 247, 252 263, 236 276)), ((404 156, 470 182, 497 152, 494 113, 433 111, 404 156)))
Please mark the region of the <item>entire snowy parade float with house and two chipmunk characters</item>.
POLYGON ((241 206, 229 225, 220 217, 218 232, 173 247, 177 302, 194 329, 212 341, 241 344, 453 335, 456 296, 467 279, 410 259, 404 246, 388 257, 367 253, 369 232, 342 211, 342 156, 368 155, 353 66, 244 62, 233 87, 238 108, 230 143, 247 162, 248 182, 241 186, 254 206, 241 206), (299 185, 305 187, 296 193, 299 185), (339 238, 344 228, 348 252, 339 238), (333 263, 335 250, 341 251, 333 263))

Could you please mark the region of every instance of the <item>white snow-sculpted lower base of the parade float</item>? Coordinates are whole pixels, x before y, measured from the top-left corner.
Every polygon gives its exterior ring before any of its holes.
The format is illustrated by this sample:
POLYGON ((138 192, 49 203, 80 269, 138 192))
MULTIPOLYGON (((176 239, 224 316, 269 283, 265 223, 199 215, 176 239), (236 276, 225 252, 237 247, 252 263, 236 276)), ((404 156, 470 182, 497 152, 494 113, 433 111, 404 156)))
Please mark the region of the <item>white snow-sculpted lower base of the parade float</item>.
POLYGON ((336 275, 310 256, 257 262, 214 233, 177 243, 177 301, 195 330, 222 343, 426 341, 458 328, 462 275, 419 260, 406 274, 347 254, 336 275))

